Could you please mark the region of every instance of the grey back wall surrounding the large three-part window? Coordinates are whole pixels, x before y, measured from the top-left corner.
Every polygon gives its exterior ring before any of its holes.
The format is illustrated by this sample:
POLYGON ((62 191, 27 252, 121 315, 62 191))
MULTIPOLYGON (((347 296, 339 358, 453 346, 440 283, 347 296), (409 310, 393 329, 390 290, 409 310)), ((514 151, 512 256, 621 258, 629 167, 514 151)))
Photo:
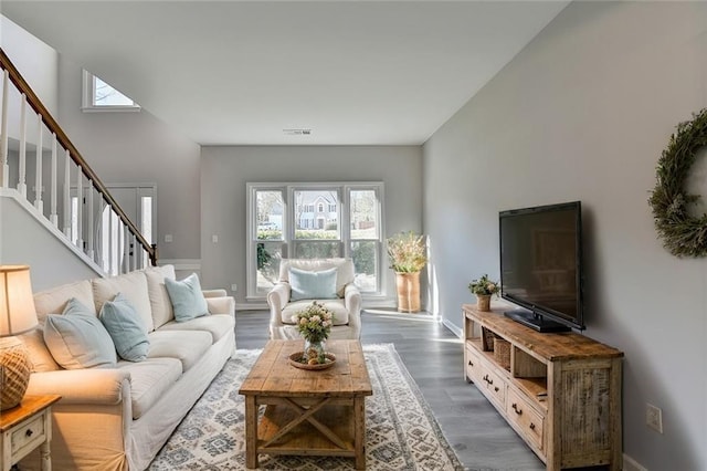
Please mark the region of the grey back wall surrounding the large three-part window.
MULTIPOLYGON (((203 147, 201 166, 202 285, 239 286, 245 302, 246 182, 383 181, 386 234, 422 229, 422 149, 403 147, 203 147), (219 237, 218 243, 211 236, 219 237)), ((386 255, 383 255, 386 257, 386 255)), ((388 266, 388 259, 383 261, 388 266)), ((384 269, 394 295, 392 272, 384 269)))

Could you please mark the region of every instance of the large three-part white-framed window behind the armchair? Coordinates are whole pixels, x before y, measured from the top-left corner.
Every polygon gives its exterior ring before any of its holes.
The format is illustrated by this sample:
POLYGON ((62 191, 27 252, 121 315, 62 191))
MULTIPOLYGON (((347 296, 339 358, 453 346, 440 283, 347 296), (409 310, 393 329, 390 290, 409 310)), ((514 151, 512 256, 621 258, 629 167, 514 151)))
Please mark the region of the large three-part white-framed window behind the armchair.
POLYGON ((382 182, 247 184, 247 299, 265 299, 282 259, 345 257, 381 293, 382 182))

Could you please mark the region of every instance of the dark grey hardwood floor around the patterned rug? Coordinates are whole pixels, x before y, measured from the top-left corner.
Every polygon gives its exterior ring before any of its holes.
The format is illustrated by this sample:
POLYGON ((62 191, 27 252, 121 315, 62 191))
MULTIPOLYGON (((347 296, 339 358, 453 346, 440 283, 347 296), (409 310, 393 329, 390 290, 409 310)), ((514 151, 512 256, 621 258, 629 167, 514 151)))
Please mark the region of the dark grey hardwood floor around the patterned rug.
MULTIPOLYGON (((238 348, 262 348, 268 312, 236 313, 238 348)), ((461 315, 461 314, 460 314, 461 315)), ((466 469, 544 470, 542 462, 463 374, 462 341, 429 314, 369 310, 362 344, 392 343, 466 469)))

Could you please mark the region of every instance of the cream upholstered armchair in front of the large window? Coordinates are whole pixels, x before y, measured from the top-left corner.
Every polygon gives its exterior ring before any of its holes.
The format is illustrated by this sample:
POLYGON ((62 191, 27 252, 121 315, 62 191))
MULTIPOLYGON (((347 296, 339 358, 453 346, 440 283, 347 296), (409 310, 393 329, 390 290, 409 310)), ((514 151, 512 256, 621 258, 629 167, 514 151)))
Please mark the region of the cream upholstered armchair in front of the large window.
POLYGON ((302 338, 292 316, 317 301, 334 313, 330 339, 356 339, 361 336, 361 293, 354 284, 355 268, 351 259, 283 259, 279 263, 279 280, 267 293, 270 306, 270 338, 302 338), (327 297, 292 299, 293 286, 289 270, 324 272, 336 269, 335 289, 327 297))

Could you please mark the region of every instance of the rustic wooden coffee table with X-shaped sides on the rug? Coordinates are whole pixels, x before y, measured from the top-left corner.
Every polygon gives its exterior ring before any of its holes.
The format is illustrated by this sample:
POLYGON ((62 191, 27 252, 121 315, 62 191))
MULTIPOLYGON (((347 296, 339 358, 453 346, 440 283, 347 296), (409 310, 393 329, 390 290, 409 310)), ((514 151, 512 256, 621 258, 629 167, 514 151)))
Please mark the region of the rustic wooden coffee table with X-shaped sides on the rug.
POLYGON ((292 366, 303 341, 270 341, 239 393, 245 396, 245 465, 257 454, 352 457, 366 469, 366 396, 373 394, 358 341, 328 341, 336 364, 292 366), (266 406, 258 423, 258 410, 266 406))

